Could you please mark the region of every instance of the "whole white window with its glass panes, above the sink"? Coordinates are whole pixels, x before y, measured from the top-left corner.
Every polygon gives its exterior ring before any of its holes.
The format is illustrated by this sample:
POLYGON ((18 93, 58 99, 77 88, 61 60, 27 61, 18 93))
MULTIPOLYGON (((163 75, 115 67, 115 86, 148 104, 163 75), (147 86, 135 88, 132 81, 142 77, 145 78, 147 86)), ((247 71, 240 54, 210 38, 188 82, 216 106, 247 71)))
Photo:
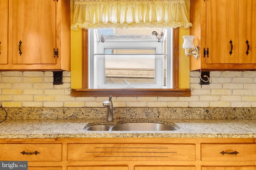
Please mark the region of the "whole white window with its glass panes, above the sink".
POLYGON ((89 34, 89 88, 172 88, 172 29, 89 29, 89 34))

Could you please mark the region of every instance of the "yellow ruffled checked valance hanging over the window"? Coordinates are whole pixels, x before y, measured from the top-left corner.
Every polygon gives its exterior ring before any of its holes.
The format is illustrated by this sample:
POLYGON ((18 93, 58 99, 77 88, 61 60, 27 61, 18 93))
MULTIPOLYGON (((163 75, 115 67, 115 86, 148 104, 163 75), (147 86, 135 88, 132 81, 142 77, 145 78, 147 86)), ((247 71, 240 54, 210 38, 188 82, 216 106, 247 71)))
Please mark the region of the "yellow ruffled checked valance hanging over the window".
POLYGON ((74 0, 72 29, 188 28, 185 0, 74 0))

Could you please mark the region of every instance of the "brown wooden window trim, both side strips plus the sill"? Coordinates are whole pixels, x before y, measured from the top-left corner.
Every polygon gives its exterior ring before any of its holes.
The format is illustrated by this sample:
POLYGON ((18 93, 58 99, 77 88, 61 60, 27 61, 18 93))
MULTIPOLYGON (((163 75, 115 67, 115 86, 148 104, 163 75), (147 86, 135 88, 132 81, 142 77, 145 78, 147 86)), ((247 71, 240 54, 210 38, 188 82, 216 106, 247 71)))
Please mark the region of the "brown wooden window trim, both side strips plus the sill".
MULTIPOLYGON (((189 97, 190 89, 179 88, 179 67, 173 67, 173 88, 171 89, 89 89, 88 76, 88 30, 82 29, 82 88, 72 89, 74 97, 189 97)), ((179 28, 173 29, 173 65, 179 65, 179 28)))

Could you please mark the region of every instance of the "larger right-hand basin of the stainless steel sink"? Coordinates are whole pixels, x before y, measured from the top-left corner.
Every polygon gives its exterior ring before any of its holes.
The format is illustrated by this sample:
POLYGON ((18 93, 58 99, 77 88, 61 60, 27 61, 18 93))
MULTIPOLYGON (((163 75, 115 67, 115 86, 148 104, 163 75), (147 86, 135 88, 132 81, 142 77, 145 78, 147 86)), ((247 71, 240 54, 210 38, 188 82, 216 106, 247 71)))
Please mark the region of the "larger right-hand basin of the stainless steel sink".
POLYGON ((112 131, 174 131, 178 130, 172 125, 163 123, 121 123, 114 125, 112 131))

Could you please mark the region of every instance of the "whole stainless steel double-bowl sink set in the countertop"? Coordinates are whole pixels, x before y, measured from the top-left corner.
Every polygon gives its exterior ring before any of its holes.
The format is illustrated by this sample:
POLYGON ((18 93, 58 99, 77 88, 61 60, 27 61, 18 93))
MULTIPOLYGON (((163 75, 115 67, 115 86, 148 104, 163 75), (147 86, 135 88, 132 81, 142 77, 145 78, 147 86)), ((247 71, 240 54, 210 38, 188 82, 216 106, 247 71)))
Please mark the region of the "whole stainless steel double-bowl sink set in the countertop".
POLYGON ((164 123, 120 123, 117 125, 92 125, 86 131, 175 131, 178 126, 164 123))

